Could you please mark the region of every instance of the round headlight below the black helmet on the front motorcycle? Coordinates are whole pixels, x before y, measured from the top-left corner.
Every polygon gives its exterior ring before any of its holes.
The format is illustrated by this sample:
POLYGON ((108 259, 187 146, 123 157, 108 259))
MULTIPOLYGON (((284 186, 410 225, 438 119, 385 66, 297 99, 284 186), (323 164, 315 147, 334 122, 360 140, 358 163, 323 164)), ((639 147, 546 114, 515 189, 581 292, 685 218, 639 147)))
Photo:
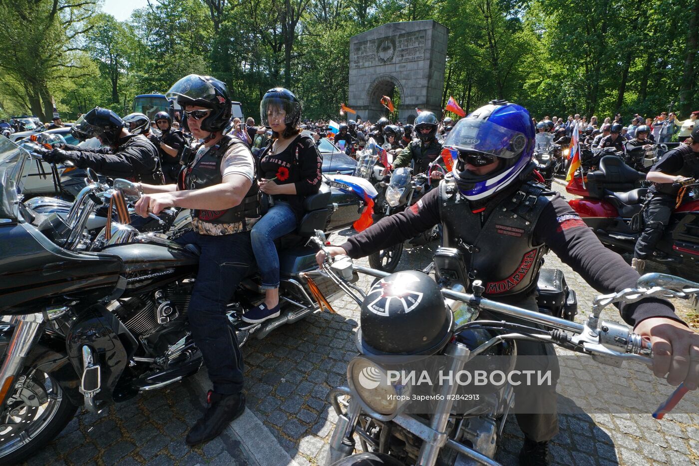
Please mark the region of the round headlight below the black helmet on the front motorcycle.
POLYGON ((347 382, 368 411, 382 416, 395 416, 410 398, 410 387, 391 384, 387 370, 364 356, 349 361, 347 382))

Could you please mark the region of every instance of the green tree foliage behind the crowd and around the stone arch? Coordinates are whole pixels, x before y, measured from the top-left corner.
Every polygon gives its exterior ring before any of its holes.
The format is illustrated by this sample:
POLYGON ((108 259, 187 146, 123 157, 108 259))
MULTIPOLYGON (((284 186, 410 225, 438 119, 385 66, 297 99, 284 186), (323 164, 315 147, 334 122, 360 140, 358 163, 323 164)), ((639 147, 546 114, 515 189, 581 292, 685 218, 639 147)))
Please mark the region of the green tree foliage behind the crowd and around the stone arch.
MULTIPOLYGON (((349 38, 387 22, 449 28, 442 98, 503 98, 536 117, 699 108, 699 0, 151 0, 126 22, 96 0, 0 0, 0 112, 131 111, 189 73, 228 84, 257 120, 289 87, 305 117, 339 119, 349 38)), ((400 96, 392 96, 399 99, 400 96)), ((438 109, 430 109, 438 110, 438 109)))

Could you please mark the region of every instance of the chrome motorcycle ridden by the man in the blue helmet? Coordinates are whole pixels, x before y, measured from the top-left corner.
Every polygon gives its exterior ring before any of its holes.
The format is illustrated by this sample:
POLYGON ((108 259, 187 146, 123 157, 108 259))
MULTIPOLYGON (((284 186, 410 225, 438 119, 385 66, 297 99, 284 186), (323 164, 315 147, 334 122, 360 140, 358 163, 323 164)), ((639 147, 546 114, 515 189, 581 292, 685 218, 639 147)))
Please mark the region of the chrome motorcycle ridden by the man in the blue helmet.
MULTIPOLYGON (((459 258, 455 250, 444 249, 435 254, 437 276, 463 277, 463 271, 459 273, 458 270, 459 258)), ((331 264, 330 260, 326 260, 324 269, 329 270, 331 264)), ((354 270, 380 279, 366 295, 350 293, 357 303, 363 305, 363 309, 370 308, 372 303, 377 301, 377 296, 394 296, 394 293, 400 292, 401 297, 396 297, 399 301, 403 300, 403 296, 412 296, 408 291, 410 287, 404 285, 419 279, 417 277, 421 274, 419 271, 389 274, 356 264, 354 270), (401 285, 391 287, 392 284, 398 283, 401 285)), ((599 362, 612 366, 619 367, 622 361, 641 361, 649 364, 649 343, 642 341, 640 336, 625 324, 600 319, 600 311, 608 303, 633 302, 639 294, 679 297, 696 294, 699 283, 652 273, 640 278, 637 287, 638 290, 624 290, 618 294, 598 296, 593 301, 590 317, 583 324, 578 324, 573 322, 572 318, 568 318, 568 315, 561 315, 549 306, 542 306, 541 301, 540 310, 543 312, 536 313, 486 299, 482 296, 484 287, 480 280, 470 282, 465 277, 446 280, 439 286, 435 285, 435 289, 438 294, 441 292, 440 298, 444 299, 447 308, 447 334, 441 340, 441 347, 436 345, 439 349, 435 353, 427 354, 442 358, 442 374, 459 373, 468 362, 474 361, 482 354, 496 354, 497 358, 506 358, 499 361, 504 361, 503 366, 512 368, 517 359, 517 352, 513 351, 513 340, 533 339, 554 343, 573 352, 592 355, 599 362), (466 287, 473 292, 466 293, 466 287), (684 287, 691 288, 691 291, 684 292, 684 287), (516 325, 504 321, 477 320, 482 311, 495 311, 530 324, 516 325), (545 329, 542 330, 541 326, 545 329)), ((406 301, 403 302, 405 306, 406 301)), ((363 310, 361 319, 370 321, 373 318, 371 314, 363 310)), ((405 319, 410 318, 408 312, 400 315, 405 316, 405 319)), ((331 435, 325 464, 432 466, 477 463, 498 466, 499 463, 493 458, 498 446, 498 437, 502 435, 512 403, 512 385, 503 384, 494 389, 489 388, 477 398, 470 398, 470 402, 466 404, 468 410, 463 410, 464 403, 461 397, 464 395, 457 393, 459 385, 443 385, 438 392, 438 398, 433 398, 435 402, 428 411, 434 414, 407 414, 407 406, 412 399, 411 393, 415 393, 411 385, 415 384, 415 379, 413 382, 391 382, 388 371, 391 368, 390 364, 396 364, 396 361, 391 360, 391 356, 387 356, 385 352, 382 353, 384 356, 377 357, 361 343, 362 326, 363 322, 360 322, 360 343, 357 345, 360 354, 347 365, 348 384, 338 386, 329 393, 329 401, 338 415, 338 421, 331 435), (356 444, 356 438, 359 439, 361 449, 356 444)), ((421 341, 413 343, 414 348, 423 344, 421 341)), ((399 369, 403 368, 406 359, 411 357, 408 343, 403 349, 405 351, 401 352, 399 369)), ((420 356, 412 357, 425 357, 424 353, 419 354, 420 356)), ((393 368, 396 369, 396 366, 393 368)))

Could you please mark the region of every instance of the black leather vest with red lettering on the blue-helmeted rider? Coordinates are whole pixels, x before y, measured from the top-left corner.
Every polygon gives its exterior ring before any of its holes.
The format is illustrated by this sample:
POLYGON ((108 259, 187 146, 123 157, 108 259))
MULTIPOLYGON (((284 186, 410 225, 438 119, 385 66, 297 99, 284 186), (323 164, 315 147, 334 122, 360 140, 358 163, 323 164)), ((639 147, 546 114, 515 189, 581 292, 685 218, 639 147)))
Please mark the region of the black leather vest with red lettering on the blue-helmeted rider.
POLYGON ((451 174, 439 190, 444 246, 461 250, 468 276, 482 280, 485 294, 492 297, 531 292, 548 251, 533 243, 534 227, 550 202, 545 187, 530 181, 514 194, 496 197, 483 224, 451 174))

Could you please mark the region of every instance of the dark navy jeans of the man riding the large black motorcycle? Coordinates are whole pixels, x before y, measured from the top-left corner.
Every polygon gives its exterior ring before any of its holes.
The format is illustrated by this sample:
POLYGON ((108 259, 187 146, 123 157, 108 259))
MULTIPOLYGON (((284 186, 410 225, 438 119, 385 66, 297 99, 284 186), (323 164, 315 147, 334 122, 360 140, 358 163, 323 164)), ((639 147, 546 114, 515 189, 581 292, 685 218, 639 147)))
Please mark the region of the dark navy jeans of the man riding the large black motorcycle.
POLYGON ((226 304, 254 260, 250 234, 208 236, 188 232, 176 242, 201 249, 187 310, 194 343, 201 350, 214 391, 221 395, 238 393, 243 389, 243 355, 226 317, 226 304))

